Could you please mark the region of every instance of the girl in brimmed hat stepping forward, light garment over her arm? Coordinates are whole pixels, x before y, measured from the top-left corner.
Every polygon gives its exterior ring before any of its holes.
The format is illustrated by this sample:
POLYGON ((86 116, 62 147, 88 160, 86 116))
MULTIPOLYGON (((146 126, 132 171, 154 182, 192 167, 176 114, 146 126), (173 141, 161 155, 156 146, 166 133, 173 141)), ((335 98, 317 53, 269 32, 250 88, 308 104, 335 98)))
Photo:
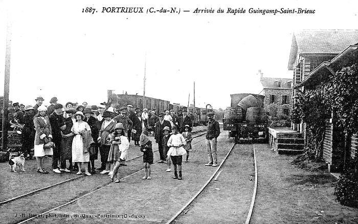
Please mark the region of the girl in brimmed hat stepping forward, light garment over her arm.
POLYGON ((108 137, 110 138, 109 142, 111 143, 108 154, 108 161, 115 163, 113 172, 110 175, 110 181, 119 183, 119 179, 117 178, 118 168, 121 165, 121 161, 125 160, 127 150, 129 148, 129 141, 125 136, 122 123, 117 123, 115 131, 108 137), (114 181, 115 177, 116 180, 114 181))

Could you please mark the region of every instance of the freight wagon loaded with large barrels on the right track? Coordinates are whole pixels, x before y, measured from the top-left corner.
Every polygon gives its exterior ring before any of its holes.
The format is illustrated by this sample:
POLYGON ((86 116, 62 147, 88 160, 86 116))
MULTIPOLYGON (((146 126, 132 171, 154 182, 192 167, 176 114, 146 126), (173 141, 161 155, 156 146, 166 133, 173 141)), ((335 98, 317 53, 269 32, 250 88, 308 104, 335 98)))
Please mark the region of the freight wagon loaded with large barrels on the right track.
POLYGON ((268 116, 263 108, 264 96, 241 93, 231 95, 231 107, 226 108, 223 130, 229 131, 229 138, 263 137, 268 139, 268 116))

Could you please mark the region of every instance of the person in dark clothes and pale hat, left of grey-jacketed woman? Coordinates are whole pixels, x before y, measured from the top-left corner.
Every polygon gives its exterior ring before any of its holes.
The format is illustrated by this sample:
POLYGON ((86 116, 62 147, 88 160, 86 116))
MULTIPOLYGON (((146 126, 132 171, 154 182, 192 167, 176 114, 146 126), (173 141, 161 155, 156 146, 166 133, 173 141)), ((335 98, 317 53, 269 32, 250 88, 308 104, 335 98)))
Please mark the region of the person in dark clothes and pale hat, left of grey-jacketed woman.
POLYGON ((31 105, 25 107, 25 114, 23 116, 24 128, 21 133, 21 139, 23 146, 21 149, 23 153, 27 154, 27 157, 32 157, 30 154, 31 149, 34 148, 35 141, 35 125, 34 125, 35 109, 31 105))

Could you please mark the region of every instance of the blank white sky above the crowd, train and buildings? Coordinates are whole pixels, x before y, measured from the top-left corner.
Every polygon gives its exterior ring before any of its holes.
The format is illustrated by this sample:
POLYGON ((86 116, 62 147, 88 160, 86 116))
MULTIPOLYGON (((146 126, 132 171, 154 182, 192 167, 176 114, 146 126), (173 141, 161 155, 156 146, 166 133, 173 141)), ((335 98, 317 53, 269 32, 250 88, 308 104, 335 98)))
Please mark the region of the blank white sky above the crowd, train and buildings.
POLYGON ((293 77, 287 66, 296 30, 358 29, 357 12, 358 4, 348 0, 0 1, 0 80, 10 36, 13 102, 34 105, 41 95, 44 105, 53 96, 62 104, 98 105, 107 101, 107 90, 143 95, 145 74, 148 97, 187 106, 195 82, 195 106, 226 108, 230 94, 262 90, 259 70, 264 77, 293 77), (97 12, 82 12, 86 7, 97 12), (102 13, 103 7, 142 7, 144 13, 102 13), (147 13, 162 7, 181 11, 147 13), (197 8, 214 13, 194 13, 197 8), (262 15, 250 8, 315 13, 262 15))

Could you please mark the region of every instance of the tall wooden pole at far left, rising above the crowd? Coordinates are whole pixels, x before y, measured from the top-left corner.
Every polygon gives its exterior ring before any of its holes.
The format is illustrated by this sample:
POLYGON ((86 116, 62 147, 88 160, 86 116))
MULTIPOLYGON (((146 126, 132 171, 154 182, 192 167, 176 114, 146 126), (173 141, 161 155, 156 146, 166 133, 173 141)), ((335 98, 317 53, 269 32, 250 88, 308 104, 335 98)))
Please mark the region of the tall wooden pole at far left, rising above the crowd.
MULTIPOLYGON (((8 12, 9 13, 9 12, 8 12)), ((5 80, 4 80, 4 114, 3 114, 3 141, 2 149, 7 150, 8 146, 8 107, 9 107, 9 89, 10 89, 10 54, 11 54, 11 22, 9 21, 10 16, 8 15, 7 21, 7 36, 6 36, 6 56, 5 56, 5 80)))

